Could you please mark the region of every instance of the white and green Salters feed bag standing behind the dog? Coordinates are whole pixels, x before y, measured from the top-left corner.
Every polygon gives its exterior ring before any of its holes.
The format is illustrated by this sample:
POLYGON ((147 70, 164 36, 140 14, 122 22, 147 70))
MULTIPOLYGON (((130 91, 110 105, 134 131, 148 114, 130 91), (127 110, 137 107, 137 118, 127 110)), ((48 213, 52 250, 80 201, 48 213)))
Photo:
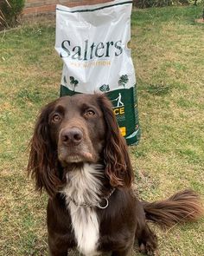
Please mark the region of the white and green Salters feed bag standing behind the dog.
POLYGON ((127 143, 139 141, 131 1, 56 7, 55 49, 63 61, 61 96, 105 93, 127 143))

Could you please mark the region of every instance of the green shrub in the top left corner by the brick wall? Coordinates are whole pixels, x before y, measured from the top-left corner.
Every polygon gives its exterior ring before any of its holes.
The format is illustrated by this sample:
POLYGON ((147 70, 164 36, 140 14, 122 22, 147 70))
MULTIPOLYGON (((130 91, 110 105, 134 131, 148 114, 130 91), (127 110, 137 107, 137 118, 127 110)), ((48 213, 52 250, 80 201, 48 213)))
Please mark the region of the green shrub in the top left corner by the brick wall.
POLYGON ((17 17, 21 14, 25 0, 0 1, 0 22, 4 27, 16 26, 17 17))

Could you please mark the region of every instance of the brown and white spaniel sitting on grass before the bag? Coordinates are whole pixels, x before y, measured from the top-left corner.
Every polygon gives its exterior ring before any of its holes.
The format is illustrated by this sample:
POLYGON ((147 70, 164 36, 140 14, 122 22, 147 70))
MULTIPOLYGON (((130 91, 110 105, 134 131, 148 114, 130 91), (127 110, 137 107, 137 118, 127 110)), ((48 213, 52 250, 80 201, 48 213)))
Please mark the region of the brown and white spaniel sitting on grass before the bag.
POLYGON ((42 109, 30 145, 28 170, 48 200, 48 246, 52 256, 77 247, 85 256, 127 256, 138 241, 154 255, 161 226, 197 220, 198 196, 182 191, 168 200, 141 202, 124 138, 105 95, 65 96, 42 109))

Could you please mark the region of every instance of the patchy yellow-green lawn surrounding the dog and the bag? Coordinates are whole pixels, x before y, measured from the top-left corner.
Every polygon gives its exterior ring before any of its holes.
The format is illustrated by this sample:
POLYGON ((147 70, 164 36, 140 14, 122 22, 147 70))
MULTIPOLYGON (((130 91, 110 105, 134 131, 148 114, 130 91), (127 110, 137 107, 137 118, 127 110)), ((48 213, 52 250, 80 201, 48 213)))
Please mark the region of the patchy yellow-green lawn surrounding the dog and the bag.
MULTIPOLYGON (((143 200, 186 187, 203 199, 204 25, 194 22, 200 17, 201 6, 132 13, 142 138, 130 153, 143 200)), ((47 195, 35 193, 26 166, 36 116, 59 96, 61 68, 53 21, 0 33, 0 256, 48 255, 47 195)), ((161 256, 204 255, 203 220, 156 233, 161 256)))

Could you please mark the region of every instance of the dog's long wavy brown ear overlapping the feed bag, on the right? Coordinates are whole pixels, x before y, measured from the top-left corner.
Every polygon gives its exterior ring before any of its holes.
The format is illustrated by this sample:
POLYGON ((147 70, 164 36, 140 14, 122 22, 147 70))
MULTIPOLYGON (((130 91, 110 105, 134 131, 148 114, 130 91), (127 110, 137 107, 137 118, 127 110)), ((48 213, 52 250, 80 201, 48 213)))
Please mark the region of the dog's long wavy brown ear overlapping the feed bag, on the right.
POLYGON ((105 134, 105 174, 112 187, 131 187, 133 170, 124 137, 120 134, 116 117, 112 111, 112 103, 105 95, 99 95, 99 105, 103 111, 105 134))

